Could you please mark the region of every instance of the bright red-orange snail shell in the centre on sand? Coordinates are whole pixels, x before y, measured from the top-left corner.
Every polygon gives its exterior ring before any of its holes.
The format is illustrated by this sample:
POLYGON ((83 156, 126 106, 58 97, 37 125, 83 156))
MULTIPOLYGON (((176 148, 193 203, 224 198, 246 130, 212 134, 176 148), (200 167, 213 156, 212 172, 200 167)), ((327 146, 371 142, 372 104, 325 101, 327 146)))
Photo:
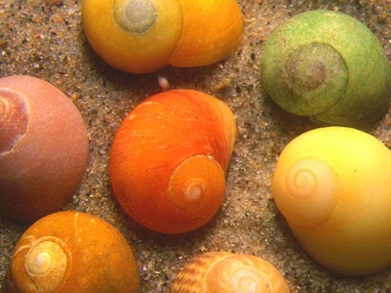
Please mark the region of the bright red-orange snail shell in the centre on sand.
POLYGON ((204 225, 222 202, 235 134, 231 110, 212 96, 182 89, 150 97, 112 144, 110 180, 122 208, 163 233, 204 225))

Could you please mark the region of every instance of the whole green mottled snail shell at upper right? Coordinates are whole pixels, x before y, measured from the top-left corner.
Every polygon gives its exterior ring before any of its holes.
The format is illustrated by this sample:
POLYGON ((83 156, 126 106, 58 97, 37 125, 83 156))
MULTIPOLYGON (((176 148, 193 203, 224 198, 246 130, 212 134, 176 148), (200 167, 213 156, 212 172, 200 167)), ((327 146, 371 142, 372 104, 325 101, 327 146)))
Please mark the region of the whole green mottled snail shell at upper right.
POLYGON ((283 109, 320 124, 368 127, 389 107, 388 58, 369 28, 343 13, 308 11, 276 29, 261 79, 283 109))

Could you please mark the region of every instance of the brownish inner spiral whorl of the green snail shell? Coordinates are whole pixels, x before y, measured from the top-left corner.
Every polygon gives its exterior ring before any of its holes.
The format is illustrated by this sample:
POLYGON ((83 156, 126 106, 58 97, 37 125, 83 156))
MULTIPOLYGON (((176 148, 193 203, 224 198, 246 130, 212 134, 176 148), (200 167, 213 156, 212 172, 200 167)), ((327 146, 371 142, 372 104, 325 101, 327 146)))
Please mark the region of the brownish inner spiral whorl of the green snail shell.
POLYGON ((290 52, 282 68, 282 92, 276 99, 286 110, 304 116, 324 112, 344 95, 348 68, 342 56, 330 45, 312 42, 290 52))

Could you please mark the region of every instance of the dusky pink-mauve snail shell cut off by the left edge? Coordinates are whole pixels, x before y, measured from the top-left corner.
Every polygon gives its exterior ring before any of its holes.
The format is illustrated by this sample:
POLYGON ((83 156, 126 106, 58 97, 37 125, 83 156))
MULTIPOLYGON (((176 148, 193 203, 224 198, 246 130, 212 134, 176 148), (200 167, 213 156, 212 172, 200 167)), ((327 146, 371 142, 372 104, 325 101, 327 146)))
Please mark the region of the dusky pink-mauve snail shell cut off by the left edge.
POLYGON ((30 76, 0 79, 0 213, 34 221, 60 209, 86 171, 88 138, 79 110, 30 76))

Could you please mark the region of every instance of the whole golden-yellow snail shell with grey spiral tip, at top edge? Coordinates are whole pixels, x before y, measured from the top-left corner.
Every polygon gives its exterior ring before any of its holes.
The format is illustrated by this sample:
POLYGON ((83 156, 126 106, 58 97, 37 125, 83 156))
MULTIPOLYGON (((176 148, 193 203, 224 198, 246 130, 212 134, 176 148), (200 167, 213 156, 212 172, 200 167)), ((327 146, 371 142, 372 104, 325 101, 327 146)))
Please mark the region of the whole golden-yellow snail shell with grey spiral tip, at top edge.
POLYGON ((235 0, 83 0, 88 42, 131 73, 217 63, 238 49, 243 23, 235 0))

